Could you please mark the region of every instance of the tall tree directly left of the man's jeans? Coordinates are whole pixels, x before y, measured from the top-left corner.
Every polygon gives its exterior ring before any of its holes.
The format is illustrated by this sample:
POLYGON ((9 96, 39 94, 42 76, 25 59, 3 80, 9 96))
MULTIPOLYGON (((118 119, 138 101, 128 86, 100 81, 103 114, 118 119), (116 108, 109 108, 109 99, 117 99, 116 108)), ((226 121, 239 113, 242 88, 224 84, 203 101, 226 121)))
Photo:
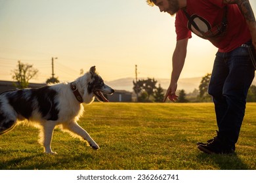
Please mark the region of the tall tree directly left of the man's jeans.
POLYGON ((208 86, 210 82, 211 74, 203 76, 199 86, 199 97, 201 101, 211 101, 211 95, 208 94, 208 86))

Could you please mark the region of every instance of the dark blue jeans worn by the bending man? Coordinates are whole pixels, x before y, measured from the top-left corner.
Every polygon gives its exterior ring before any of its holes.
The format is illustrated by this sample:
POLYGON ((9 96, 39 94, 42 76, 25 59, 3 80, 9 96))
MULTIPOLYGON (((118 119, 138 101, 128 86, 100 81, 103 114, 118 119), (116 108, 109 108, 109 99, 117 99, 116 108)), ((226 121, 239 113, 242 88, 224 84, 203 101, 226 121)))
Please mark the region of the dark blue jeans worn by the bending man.
MULTIPOLYGON (((251 45, 251 42, 245 44, 251 45)), ((219 133, 228 144, 238 141, 244 119, 246 96, 255 69, 246 47, 231 52, 217 52, 208 93, 213 97, 219 133)))

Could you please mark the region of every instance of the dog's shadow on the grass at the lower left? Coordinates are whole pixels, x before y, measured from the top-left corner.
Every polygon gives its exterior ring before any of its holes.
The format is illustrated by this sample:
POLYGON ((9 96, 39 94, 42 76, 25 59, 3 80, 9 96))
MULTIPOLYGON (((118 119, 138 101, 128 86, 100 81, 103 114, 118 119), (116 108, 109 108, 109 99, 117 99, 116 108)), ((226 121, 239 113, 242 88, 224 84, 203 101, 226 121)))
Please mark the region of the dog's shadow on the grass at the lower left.
MULTIPOLYGON (((1 150, 0 154, 4 156, 6 153, 12 153, 10 150, 1 150)), ((13 151, 17 154, 18 151, 13 151)), ((30 155, 22 156, 20 158, 5 159, 0 163, 1 170, 63 170, 70 169, 70 164, 74 165, 74 162, 93 161, 93 156, 91 154, 82 153, 82 154, 73 154, 72 156, 59 156, 59 155, 50 155, 43 153, 31 153, 30 155)), ((72 167, 73 169, 79 169, 79 167, 72 167)))

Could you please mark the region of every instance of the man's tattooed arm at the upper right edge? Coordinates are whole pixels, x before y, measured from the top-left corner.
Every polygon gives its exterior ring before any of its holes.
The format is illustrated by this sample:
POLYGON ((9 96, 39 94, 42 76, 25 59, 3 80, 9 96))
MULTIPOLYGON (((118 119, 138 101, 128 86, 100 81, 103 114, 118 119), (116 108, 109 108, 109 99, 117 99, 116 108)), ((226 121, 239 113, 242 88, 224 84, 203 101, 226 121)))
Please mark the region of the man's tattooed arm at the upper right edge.
POLYGON ((238 5, 238 8, 240 8, 240 11, 244 15, 244 18, 247 22, 249 31, 251 33, 253 46, 256 48, 256 22, 249 0, 223 0, 223 3, 238 5))

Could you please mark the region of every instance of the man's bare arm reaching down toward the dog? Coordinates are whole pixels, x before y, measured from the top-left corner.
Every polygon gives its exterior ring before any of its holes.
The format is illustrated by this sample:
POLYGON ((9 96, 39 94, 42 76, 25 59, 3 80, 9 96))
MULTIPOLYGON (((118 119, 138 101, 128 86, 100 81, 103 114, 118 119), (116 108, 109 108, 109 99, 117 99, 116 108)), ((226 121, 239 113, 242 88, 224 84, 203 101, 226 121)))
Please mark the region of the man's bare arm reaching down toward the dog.
MULTIPOLYGON (((188 46, 188 39, 177 41, 175 51, 173 52, 173 71, 171 73, 171 82, 167 92, 165 93, 164 102, 168 96, 175 96, 177 90, 177 82, 181 75, 182 68, 186 59, 186 48, 188 46)), ((174 97, 175 98, 175 97, 174 97)), ((177 97, 176 97, 177 98, 177 97)), ((173 99, 172 101, 174 101, 173 99)))

